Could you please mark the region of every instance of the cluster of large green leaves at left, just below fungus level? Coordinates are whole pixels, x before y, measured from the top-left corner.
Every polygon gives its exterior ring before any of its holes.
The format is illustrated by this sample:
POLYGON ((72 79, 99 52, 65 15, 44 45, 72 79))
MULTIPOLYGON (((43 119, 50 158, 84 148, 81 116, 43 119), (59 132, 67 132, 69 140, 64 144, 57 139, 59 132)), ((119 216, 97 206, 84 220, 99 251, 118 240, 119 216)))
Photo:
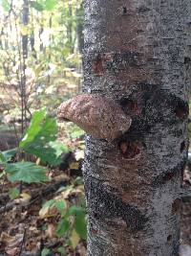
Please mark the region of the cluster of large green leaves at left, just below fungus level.
MULTIPOLYGON (((19 144, 19 149, 0 152, 0 164, 3 165, 9 179, 26 183, 49 181, 46 168, 32 162, 11 163, 11 158, 17 152, 24 151, 40 158, 43 163, 57 165, 61 162, 61 154, 68 151, 68 148, 57 142, 56 138, 55 119, 47 115, 45 108, 36 111, 32 116, 30 127, 19 144)), ((61 206, 59 202, 57 207, 61 206)))

